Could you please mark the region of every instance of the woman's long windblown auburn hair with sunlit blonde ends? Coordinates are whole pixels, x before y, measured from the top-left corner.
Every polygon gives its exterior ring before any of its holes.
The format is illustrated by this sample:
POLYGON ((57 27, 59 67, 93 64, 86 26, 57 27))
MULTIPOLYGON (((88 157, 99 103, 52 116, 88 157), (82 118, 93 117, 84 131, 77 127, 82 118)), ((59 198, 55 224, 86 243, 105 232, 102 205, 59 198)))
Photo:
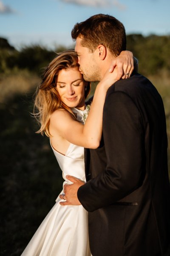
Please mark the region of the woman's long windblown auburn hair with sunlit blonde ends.
MULTIPOLYGON (((66 50, 62 53, 57 53, 50 64, 45 68, 42 75, 42 82, 37 88, 35 102, 34 102, 34 117, 40 124, 40 129, 37 133, 45 132, 48 137, 51 136, 49 132, 51 114, 57 109, 67 110, 74 119, 76 116, 71 108, 62 102, 61 97, 57 91, 57 76, 62 69, 79 67, 77 62, 77 54, 74 50, 66 50)), ((85 98, 91 89, 90 82, 86 82, 85 98)))

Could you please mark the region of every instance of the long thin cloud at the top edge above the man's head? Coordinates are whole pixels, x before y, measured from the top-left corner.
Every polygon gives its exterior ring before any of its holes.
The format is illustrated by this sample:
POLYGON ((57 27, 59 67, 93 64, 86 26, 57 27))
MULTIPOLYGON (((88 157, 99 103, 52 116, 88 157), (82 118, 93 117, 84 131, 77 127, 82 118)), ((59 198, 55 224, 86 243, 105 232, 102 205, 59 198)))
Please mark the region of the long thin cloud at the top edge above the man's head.
POLYGON ((61 0, 65 3, 74 3, 79 6, 91 6, 91 7, 111 7, 115 6, 118 9, 124 10, 126 6, 119 3, 118 0, 61 0))

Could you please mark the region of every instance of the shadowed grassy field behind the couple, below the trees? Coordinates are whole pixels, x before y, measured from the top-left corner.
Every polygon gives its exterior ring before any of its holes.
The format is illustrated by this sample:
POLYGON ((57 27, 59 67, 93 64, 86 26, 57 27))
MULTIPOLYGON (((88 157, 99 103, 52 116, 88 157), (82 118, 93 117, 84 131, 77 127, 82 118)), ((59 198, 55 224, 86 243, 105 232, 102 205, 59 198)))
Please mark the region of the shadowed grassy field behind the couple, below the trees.
MULTIPOLYGON (((170 141, 170 77, 149 77, 161 94, 170 141)), ((20 256, 62 189, 62 174, 47 137, 35 133, 30 112, 39 78, 28 71, 0 77, 0 256, 20 256)), ((169 169, 170 169, 170 147, 169 169)))

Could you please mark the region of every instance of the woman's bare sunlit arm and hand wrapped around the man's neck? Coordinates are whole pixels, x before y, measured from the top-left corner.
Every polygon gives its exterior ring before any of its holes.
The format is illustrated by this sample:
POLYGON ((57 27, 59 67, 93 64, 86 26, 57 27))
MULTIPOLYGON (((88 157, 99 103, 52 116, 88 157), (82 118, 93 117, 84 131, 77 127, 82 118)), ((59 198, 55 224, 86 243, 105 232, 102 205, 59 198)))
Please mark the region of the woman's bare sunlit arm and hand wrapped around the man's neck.
POLYGON ((123 66, 121 61, 114 61, 113 65, 116 65, 118 68, 115 68, 113 73, 107 71, 102 81, 97 85, 91 110, 85 125, 75 121, 67 111, 59 109, 51 115, 51 129, 56 130, 62 138, 72 144, 88 148, 97 148, 102 135, 102 113, 106 92, 109 86, 116 82, 118 76, 117 72, 120 70, 119 66, 123 68, 123 74, 133 71, 133 58, 132 54, 129 54, 130 55, 122 53, 123 57, 118 56, 117 58, 119 59, 123 58, 123 66))

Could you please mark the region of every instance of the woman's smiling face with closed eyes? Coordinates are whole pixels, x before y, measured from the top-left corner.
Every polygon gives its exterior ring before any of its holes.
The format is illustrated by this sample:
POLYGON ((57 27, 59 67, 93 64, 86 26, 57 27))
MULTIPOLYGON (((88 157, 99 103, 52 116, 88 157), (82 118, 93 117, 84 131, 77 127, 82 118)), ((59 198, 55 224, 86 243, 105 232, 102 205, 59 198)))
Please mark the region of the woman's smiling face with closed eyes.
POLYGON ((57 91, 68 107, 85 109, 85 81, 78 67, 59 71, 57 91))

